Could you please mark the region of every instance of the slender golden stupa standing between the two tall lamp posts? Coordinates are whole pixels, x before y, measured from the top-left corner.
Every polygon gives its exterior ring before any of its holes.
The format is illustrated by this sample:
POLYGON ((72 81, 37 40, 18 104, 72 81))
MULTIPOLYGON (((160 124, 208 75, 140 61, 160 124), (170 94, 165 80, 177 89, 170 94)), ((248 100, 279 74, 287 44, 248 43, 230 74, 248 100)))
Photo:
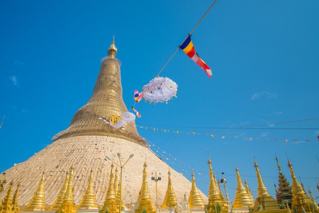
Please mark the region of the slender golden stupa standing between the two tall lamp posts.
POLYGON ((147 173, 146 173, 147 164, 146 161, 144 163, 143 169, 143 180, 142 180, 142 187, 139 193, 140 203, 138 209, 135 211, 136 213, 143 213, 143 212, 156 212, 153 207, 153 203, 151 201, 151 196, 149 195, 148 190, 148 183, 147 183, 147 173))

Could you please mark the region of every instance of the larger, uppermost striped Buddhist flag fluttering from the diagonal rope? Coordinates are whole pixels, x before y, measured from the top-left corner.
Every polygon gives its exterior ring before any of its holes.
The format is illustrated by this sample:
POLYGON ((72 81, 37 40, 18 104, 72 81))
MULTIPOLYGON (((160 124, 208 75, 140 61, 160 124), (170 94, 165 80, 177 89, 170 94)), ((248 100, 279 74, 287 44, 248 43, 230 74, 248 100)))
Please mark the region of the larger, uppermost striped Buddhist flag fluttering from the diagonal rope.
POLYGON ((207 66, 207 64, 198 56, 195 51, 195 47, 193 45, 193 41, 191 39, 191 35, 187 37, 187 39, 179 46, 185 54, 190 57, 198 66, 200 66, 210 78, 212 76, 211 69, 207 66))

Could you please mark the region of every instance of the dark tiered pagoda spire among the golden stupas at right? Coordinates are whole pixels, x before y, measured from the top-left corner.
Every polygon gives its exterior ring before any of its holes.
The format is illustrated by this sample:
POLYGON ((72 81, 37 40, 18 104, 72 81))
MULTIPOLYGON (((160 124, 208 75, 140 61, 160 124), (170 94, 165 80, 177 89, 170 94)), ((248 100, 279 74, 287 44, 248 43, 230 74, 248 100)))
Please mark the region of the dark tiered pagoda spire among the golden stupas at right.
POLYGON ((278 178, 278 189, 276 190, 276 199, 279 204, 288 204, 289 208, 291 208, 291 198, 293 198, 293 192, 290 187, 290 183, 285 178, 285 175, 282 173, 278 158, 276 156, 277 167, 279 170, 279 178, 278 178))

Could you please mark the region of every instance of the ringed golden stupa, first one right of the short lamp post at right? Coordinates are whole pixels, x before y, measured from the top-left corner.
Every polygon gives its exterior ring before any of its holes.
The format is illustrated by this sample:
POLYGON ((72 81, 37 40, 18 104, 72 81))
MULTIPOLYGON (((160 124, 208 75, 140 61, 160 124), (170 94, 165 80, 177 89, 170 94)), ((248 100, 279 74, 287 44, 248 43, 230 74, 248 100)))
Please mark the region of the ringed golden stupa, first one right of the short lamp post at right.
POLYGON ((243 185, 241 175, 238 172, 238 168, 236 167, 235 170, 236 170, 236 177, 237 177, 237 189, 236 189, 235 200, 233 202, 232 209, 240 210, 239 212, 249 212, 249 209, 254 206, 254 200, 246 191, 246 188, 243 185))

